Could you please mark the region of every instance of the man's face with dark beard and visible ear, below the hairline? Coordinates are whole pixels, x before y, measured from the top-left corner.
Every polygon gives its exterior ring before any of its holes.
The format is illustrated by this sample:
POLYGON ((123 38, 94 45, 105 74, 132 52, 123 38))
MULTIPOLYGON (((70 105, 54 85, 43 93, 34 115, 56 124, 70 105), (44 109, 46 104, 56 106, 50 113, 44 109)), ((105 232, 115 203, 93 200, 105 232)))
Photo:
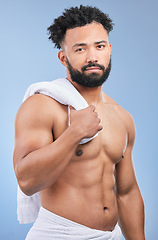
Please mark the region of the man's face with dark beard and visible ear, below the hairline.
POLYGON ((59 59, 67 67, 69 80, 85 87, 98 87, 111 70, 111 45, 101 24, 69 29, 59 59))

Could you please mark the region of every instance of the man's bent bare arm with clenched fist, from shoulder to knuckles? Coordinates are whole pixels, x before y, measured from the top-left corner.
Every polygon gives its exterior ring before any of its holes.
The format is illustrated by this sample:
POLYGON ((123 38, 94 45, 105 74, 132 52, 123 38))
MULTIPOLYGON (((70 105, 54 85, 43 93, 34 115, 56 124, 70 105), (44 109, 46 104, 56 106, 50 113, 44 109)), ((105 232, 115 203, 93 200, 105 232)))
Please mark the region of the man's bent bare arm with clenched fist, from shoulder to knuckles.
POLYGON ((22 104, 16 116, 13 163, 18 183, 27 195, 51 186, 69 164, 80 140, 102 129, 94 106, 72 111, 71 126, 53 142, 57 111, 52 99, 35 95, 22 104))

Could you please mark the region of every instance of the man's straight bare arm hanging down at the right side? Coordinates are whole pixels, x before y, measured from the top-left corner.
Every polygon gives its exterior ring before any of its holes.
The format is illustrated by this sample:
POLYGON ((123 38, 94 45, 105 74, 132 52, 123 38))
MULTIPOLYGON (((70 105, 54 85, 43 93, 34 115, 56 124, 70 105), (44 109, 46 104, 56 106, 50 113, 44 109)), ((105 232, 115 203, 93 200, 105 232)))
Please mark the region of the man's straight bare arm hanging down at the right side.
POLYGON ((128 145, 125 157, 116 166, 119 224, 126 240, 144 240, 144 203, 135 177, 132 149, 135 126, 131 116, 128 122, 128 145))

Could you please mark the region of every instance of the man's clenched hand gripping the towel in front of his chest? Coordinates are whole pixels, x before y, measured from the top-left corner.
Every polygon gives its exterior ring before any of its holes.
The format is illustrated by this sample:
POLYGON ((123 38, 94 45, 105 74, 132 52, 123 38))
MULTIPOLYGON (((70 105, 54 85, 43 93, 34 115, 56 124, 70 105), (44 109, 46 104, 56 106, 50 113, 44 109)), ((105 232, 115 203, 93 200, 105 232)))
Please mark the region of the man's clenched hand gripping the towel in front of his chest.
POLYGON ((76 134, 81 138, 93 137, 103 127, 100 125, 100 119, 95 106, 90 105, 82 110, 74 110, 70 106, 70 126, 76 128, 76 134))

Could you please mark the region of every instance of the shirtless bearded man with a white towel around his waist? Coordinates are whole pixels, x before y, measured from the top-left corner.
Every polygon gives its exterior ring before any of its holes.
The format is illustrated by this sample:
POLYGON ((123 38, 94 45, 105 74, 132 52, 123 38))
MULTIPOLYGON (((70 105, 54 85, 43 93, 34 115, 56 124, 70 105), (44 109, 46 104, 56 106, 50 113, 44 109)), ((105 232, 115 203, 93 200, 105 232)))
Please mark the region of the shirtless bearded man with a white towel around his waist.
POLYGON ((79 111, 70 106, 69 127, 68 107, 42 94, 29 97, 17 113, 15 173, 22 191, 40 192, 42 204, 27 240, 120 239, 104 237, 117 222, 127 240, 145 239, 132 163, 134 122, 102 91, 111 69, 112 29, 108 15, 82 5, 65 10, 48 28, 67 81, 89 106, 79 111))

